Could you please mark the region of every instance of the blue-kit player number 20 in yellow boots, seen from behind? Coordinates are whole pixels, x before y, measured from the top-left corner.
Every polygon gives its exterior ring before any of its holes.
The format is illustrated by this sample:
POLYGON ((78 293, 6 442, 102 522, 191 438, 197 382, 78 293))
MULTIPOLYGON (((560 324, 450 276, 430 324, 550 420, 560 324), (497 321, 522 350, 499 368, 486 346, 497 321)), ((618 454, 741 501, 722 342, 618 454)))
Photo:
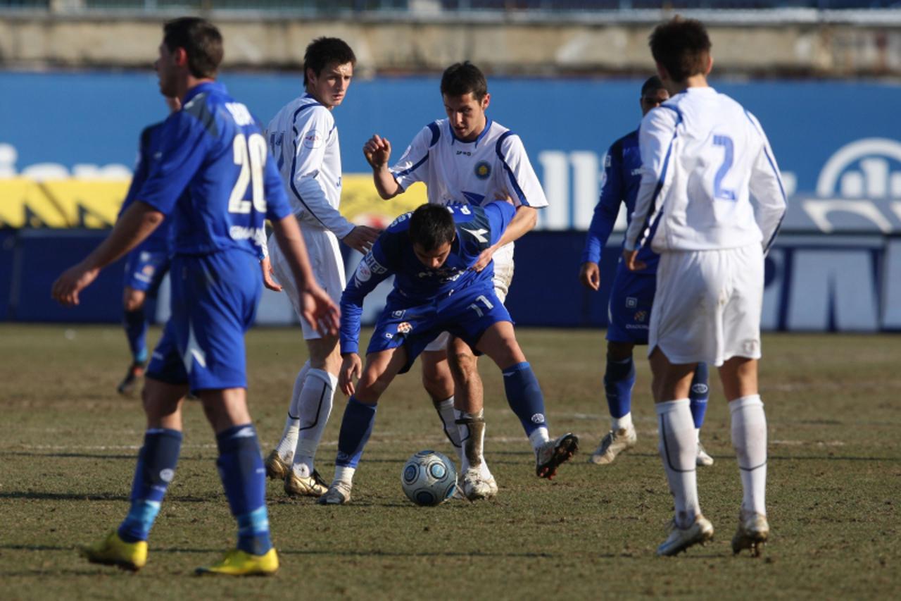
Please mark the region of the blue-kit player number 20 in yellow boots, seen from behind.
POLYGON ((153 352, 143 401, 148 429, 138 455, 131 509, 117 530, 81 550, 89 561, 141 569, 147 539, 175 473, 181 406, 196 394, 219 447, 216 465, 238 522, 237 548, 201 573, 271 574, 265 470, 246 402, 243 335, 261 291, 257 261, 269 218, 300 288, 304 316, 336 330, 338 311, 313 278, 266 140, 246 106, 215 81, 223 58, 213 24, 187 17, 165 24, 155 63, 164 96, 181 99, 160 133, 159 161, 113 232, 53 285, 63 304, 173 212, 172 316, 153 352))

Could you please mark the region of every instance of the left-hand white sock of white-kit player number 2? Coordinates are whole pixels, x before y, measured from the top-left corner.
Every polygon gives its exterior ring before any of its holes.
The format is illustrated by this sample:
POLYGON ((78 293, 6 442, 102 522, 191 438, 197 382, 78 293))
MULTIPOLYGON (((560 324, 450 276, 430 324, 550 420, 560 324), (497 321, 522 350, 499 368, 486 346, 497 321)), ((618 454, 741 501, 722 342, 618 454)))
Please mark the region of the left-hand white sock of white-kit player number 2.
POLYGON ((701 513, 697 502, 697 440, 688 399, 658 402, 660 422, 660 458, 667 472, 669 491, 676 504, 676 525, 687 528, 701 513))

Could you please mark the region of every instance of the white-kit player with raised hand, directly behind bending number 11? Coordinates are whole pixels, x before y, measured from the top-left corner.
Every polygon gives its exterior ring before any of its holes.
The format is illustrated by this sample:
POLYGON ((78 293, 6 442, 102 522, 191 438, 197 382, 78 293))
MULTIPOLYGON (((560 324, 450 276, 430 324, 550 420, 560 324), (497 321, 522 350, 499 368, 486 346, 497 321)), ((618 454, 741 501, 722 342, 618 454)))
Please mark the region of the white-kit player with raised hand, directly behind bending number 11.
MULTIPOLYGON (((429 202, 439 205, 465 203, 478 207, 494 199, 513 199, 516 213, 509 227, 472 265, 480 271, 494 259, 495 291, 503 302, 513 279, 513 241, 535 226, 537 209, 546 207, 548 201, 522 140, 487 117, 491 95, 478 67, 467 61, 445 69, 441 98, 447 118, 423 127, 390 170, 391 143, 387 138, 373 135, 363 146, 363 153, 383 199, 393 199, 416 181, 425 183, 429 202)), ((423 385, 457 449, 463 493, 470 500, 496 495, 497 484, 483 453, 482 382, 469 345, 453 337, 449 342, 445 334, 436 337, 423 352, 423 385)), ((528 412, 519 404, 524 397, 507 398, 523 423, 539 465, 552 455, 571 457, 577 451, 577 437, 565 434, 551 440, 543 412, 528 412)), ((539 476, 552 474, 542 468, 538 472, 539 476)))

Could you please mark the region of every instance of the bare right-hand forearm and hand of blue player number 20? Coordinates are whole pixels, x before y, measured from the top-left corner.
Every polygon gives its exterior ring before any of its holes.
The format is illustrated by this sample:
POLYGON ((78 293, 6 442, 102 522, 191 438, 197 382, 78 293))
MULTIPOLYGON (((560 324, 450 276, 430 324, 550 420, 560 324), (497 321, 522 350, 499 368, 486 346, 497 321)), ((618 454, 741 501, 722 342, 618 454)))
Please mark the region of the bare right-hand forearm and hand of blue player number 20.
POLYGON ((304 303, 302 311, 304 319, 321 334, 335 336, 340 327, 341 312, 329 295, 315 282, 296 217, 288 215, 273 221, 272 229, 278 240, 278 246, 291 265, 291 271, 294 272, 298 296, 304 303))

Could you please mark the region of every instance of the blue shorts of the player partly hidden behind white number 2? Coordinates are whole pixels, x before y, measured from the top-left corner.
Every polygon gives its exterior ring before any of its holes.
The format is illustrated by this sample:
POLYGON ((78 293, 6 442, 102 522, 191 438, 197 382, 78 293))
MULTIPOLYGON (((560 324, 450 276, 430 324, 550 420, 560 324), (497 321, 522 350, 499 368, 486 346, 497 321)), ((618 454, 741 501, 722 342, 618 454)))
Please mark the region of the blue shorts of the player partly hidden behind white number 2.
POLYGON ((616 266, 610 304, 607 308, 607 340, 648 344, 651 306, 657 290, 656 273, 630 272, 622 261, 616 266))

